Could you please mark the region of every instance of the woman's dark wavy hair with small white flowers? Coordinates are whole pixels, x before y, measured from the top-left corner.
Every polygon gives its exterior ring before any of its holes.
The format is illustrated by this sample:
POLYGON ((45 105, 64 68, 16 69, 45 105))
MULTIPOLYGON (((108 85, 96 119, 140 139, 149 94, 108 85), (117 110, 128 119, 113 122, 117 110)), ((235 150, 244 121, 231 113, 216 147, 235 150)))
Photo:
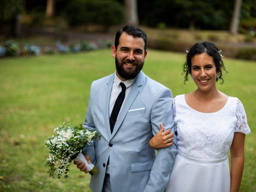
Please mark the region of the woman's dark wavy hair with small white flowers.
MULTIPOLYGON (((220 50, 216 47, 215 44, 204 41, 194 44, 186 57, 186 62, 183 64, 183 72, 182 74, 185 74, 184 76, 184 84, 186 84, 186 81, 188 80, 188 74, 191 74, 191 59, 196 54, 201 53, 207 53, 208 55, 213 57, 214 64, 216 66, 216 72, 219 73, 218 78, 222 80, 220 84, 224 82, 222 78, 222 70, 226 71, 226 68, 224 66, 224 63, 222 61, 222 57, 220 56, 220 50)), ((227 73, 227 71, 226 71, 227 73)), ((217 80, 216 80, 217 81, 217 80)))

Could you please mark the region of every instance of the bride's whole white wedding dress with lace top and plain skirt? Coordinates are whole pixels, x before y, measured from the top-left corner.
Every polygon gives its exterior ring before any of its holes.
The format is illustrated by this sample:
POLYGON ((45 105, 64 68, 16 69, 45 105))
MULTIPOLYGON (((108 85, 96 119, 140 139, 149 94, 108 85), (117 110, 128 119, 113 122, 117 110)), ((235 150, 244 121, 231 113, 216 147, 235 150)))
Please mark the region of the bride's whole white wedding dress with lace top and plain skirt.
POLYGON ((178 154, 166 192, 229 192, 228 152, 234 132, 250 133, 240 100, 228 97, 221 110, 202 113, 178 95, 173 111, 178 154))

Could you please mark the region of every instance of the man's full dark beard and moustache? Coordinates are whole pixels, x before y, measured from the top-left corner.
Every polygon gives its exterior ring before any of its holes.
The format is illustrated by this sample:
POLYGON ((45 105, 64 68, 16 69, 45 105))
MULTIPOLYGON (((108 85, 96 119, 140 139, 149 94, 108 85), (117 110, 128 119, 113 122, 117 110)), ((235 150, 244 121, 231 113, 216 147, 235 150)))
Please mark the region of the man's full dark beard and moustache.
MULTIPOLYGON (((136 64, 136 68, 133 71, 126 71, 126 70, 124 70, 124 67, 123 67, 124 64, 122 62, 119 63, 117 58, 115 59, 115 61, 116 61, 116 70, 117 70, 118 74, 124 79, 136 78, 137 75, 139 74, 140 70, 142 70, 143 65, 144 65, 144 61, 143 61, 140 64, 136 64)), ((133 63, 133 62, 130 62, 130 63, 133 63)))

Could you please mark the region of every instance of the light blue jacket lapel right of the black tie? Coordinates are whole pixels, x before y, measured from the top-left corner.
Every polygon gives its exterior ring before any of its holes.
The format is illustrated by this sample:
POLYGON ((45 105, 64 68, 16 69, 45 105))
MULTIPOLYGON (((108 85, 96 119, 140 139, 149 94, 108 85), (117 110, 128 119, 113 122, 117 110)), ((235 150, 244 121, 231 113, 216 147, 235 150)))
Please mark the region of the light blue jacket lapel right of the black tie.
MULTIPOLYGON (((145 77, 146 77, 146 75, 142 71, 140 71, 140 74, 138 75, 134 84, 132 85, 129 95, 127 96, 127 98, 122 106, 122 109, 119 112, 118 118, 116 120, 116 124, 114 126, 114 130, 112 132, 110 139, 114 137, 114 135, 120 128, 122 122, 124 121, 124 118, 126 117, 128 110, 130 109, 130 107, 132 106, 132 103, 134 102, 135 98, 137 97, 138 93, 140 92, 139 87, 142 86, 145 77)), ((108 127, 110 127, 110 126, 108 125, 108 127)), ((109 128, 109 130, 110 130, 110 128, 109 128)))

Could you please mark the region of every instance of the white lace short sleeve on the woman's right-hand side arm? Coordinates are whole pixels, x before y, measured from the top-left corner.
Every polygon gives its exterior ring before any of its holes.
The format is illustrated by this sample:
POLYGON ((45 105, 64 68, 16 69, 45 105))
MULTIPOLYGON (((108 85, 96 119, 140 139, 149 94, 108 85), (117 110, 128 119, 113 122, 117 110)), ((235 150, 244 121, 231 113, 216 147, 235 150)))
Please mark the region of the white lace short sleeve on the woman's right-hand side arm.
POLYGON ((250 134, 251 130, 247 124, 246 113, 242 102, 238 99, 236 103, 236 128, 235 132, 250 134))

